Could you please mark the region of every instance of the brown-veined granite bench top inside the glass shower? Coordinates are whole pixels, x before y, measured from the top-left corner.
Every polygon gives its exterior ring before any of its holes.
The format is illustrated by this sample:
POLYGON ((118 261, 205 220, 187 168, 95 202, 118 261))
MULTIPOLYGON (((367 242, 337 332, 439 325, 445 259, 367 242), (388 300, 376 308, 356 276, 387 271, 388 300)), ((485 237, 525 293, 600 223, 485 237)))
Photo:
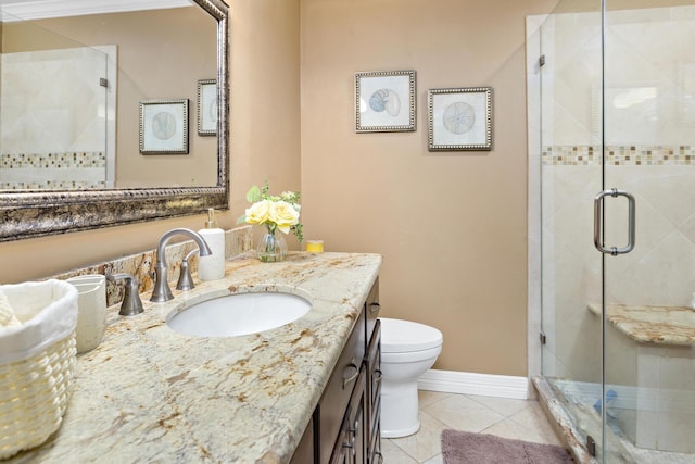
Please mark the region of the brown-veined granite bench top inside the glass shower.
MULTIPOLYGON (((601 315, 601 305, 589 310, 601 315)), ((642 343, 695 344, 695 311, 686 306, 609 304, 608 322, 619 331, 642 343)))

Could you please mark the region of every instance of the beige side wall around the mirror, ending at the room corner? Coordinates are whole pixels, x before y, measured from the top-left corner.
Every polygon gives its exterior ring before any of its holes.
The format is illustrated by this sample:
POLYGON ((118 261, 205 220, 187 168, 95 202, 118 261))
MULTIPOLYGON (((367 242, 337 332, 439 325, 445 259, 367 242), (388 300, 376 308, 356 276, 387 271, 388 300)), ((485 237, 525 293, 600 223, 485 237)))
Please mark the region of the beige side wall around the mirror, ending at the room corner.
MULTIPOLYGON (((219 216, 225 228, 243 214, 244 195, 252 184, 267 177, 274 188, 300 188, 299 2, 230 4, 232 174, 231 211, 219 216)), ((0 243, 0 283, 40 278, 152 249, 169 228, 198 229, 203 221, 195 215, 0 243)))

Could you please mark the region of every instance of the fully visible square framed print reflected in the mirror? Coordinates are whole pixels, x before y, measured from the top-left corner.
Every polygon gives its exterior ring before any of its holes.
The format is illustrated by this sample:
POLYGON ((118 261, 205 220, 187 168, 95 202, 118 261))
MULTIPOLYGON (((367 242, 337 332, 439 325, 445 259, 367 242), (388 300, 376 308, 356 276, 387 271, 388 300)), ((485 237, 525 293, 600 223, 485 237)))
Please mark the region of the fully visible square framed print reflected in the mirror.
POLYGON ((140 153, 188 153, 188 99, 140 102, 140 153))

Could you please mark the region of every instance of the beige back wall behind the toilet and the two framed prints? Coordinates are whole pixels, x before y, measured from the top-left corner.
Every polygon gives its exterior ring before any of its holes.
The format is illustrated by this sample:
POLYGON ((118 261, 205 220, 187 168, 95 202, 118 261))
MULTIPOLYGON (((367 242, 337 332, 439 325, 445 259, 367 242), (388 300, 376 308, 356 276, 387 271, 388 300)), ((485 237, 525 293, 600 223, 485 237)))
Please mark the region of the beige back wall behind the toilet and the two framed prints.
POLYGON ((302 1, 305 235, 382 253, 384 316, 444 334, 435 368, 527 373, 525 16, 553 0, 302 1), (354 73, 415 70, 417 131, 355 134, 354 73), (494 149, 427 149, 427 89, 491 86, 494 149))

